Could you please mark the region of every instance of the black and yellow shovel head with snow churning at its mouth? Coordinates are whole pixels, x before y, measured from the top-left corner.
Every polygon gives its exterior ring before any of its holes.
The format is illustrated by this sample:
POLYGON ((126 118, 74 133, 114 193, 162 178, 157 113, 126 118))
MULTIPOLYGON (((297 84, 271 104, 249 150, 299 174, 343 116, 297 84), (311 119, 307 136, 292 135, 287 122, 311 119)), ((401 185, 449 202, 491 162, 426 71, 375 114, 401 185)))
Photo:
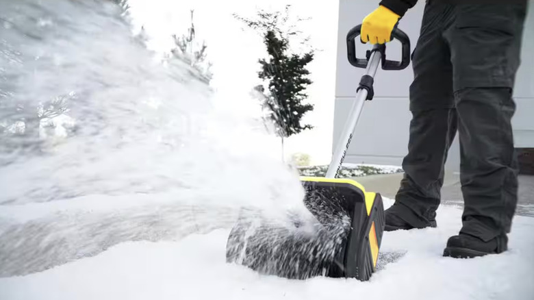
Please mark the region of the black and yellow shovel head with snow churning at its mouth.
POLYGON ((383 232, 380 196, 348 179, 301 181, 311 214, 288 212, 272 219, 243 210, 227 241, 227 262, 290 279, 369 279, 383 232))

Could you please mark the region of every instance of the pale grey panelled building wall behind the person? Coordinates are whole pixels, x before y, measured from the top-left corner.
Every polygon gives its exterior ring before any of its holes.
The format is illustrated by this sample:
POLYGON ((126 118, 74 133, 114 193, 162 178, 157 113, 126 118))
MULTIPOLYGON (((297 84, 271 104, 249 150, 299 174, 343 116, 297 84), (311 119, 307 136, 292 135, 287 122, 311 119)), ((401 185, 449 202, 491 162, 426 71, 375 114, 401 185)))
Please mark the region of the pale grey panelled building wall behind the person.
MULTIPOLYGON (((374 8, 378 0, 351 1, 340 0, 338 24, 338 60, 335 86, 335 110, 333 124, 333 143, 338 140, 344 125, 351 101, 355 99, 364 69, 355 68, 346 58, 346 33, 374 8)), ((399 23, 399 29, 408 34, 411 50, 419 36, 424 0, 407 12, 399 23)), ((534 147, 534 0, 529 1, 530 9, 525 23, 522 64, 517 75, 514 98, 518 104, 513 118, 516 147, 534 147)), ((370 45, 358 44, 357 53, 364 57, 370 45)), ((388 59, 400 60, 400 42, 387 44, 388 59)), ((400 166, 407 153, 409 112, 408 92, 413 79, 411 65, 402 71, 383 71, 379 69, 374 78, 374 99, 366 101, 361 114, 355 138, 348 150, 345 162, 365 162, 371 164, 394 164, 400 166)), ((459 146, 457 139, 449 152, 446 168, 459 169, 459 146)))

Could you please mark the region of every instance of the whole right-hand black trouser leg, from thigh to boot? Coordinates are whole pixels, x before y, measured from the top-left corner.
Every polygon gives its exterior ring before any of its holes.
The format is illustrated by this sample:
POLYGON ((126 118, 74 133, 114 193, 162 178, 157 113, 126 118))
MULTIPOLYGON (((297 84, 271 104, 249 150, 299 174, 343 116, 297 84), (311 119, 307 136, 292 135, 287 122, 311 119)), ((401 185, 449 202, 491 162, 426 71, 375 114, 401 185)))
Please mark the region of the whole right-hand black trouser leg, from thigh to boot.
POLYGON ((525 12, 525 5, 458 5, 446 32, 459 117, 461 232, 484 241, 509 232, 516 209, 511 88, 525 12))

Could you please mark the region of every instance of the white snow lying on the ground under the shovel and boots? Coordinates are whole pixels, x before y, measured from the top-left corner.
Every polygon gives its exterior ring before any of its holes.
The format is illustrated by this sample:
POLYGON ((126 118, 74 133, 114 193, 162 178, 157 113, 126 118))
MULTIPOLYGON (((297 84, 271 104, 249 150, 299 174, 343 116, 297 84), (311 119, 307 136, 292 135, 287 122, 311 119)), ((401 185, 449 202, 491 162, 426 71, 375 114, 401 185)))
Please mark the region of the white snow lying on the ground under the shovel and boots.
MULTIPOLYGON (((385 206, 392 200, 385 199, 385 206)), ((123 242, 92 258, 0 279, 0 299, 517 299, 534 295, 534 218, 516 216, 509 251, 471 260, 442 257, 461 210, 442 206, 437 228, 386 232, 369 282, 265 276, 225 262, 229 229, 166 242, 123 242), (394 256, 394 255, 393 255, 394 256)))

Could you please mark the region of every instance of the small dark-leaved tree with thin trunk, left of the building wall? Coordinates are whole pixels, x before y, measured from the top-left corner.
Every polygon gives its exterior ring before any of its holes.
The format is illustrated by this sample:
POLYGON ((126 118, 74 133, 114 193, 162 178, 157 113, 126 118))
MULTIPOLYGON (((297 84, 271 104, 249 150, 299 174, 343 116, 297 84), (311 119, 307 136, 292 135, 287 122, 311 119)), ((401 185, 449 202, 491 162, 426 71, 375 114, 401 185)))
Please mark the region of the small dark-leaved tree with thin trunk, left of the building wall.
POLYGON ((307 99, 305 89, 312 84, 306 66, 314 59, 314 52, 290 53, 289 37, 296 36, 299 32, 294 30, 294 26, 288 26, 289 8, 290 5, 285 6, 285 16, 280 12, 259 11, 256 20, 234 14, 248 27, 262 34, 268 58, 258 60, 261 66, 258 77, 267 83, 268 88, 256 86, 254 89, 264 95, 262 105, 268 110, 268 119, 275 125, 282 147, 283 138, 313 128, 312 125, 303 124, 301 120, 307 112, 314 109, 313 105, 303 103, 307 99))

